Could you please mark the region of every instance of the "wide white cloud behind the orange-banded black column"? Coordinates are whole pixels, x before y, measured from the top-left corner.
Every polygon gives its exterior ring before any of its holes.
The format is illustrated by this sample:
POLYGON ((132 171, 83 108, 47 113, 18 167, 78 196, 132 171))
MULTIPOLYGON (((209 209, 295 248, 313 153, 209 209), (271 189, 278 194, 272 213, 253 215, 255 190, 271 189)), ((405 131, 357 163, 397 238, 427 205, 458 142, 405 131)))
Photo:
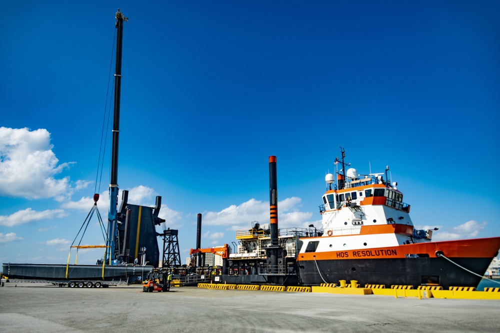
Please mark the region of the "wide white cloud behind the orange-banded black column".
MULTIPOLYGON (((297 197, 278 201, 279 228, 302 227, 311 217, 310 212, 300 212, 301 199, 297 197)), ((231 230, 251 227, 252 221, 260 224, 269 222, 269 203, 250 199, 238 206, 231 205, 220 212, 203 213, 203 224, 212 226, 229 226, 231 230)))

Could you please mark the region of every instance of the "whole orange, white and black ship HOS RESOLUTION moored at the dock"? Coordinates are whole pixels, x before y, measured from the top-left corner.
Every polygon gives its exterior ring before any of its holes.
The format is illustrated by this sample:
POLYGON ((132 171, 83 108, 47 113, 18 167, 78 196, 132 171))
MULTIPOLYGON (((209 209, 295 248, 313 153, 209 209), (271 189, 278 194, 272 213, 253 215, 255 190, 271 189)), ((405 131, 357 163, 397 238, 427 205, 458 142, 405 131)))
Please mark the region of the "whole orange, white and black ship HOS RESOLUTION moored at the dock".
MULTIPOLYGON (((355 280, 360 285, 477 287, 500 237, 432 241, 417 230, 397 183, 382 173, 359 175, 336 158, 325 176, 321 227, 277 228, 276 157, 269 157, 270 223, 236 231, 233 253, 218 280, 313 286, 355 280)), ((196 250, 192 251, 196 254, 196 250)), ((222 253, 222 252, 221 252, 222 253)))

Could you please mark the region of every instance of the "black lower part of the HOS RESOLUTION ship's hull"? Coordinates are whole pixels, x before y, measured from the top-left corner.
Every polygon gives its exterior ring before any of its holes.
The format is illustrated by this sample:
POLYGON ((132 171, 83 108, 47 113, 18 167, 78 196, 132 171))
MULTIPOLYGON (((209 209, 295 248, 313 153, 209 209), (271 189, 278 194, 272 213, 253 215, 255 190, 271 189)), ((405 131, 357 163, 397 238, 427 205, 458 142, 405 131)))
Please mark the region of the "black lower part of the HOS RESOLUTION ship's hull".
MULTIPOLYGON (((489 258, 453 258, 456 264, 482 276, 489 258)), ((438 284, 449 287, 477 287, 477 277, 443 258, 402 258, 372 260, 300 261, 300 282, 303 285, 356 280, 358 284, 420 286, 438 284), (316 267, 317 263, 317 267, 316 267), (318 273, 318 270, 320 273, 318 273)))

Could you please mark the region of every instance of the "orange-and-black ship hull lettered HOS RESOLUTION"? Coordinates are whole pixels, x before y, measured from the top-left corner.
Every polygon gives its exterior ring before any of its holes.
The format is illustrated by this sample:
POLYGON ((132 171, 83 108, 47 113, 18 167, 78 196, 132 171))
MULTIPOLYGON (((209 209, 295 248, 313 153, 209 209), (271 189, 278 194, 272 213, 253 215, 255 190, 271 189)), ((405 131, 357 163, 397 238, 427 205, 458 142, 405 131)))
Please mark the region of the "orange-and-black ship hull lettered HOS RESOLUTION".
MULTIPOLYGON (((324 242, 328 238, 335 237, 301 240, 311 242, 317 239, 324 242)), ((495 237, 345 251, 315 251, 299 253, 297 261, 300 280, 304 285, 356 280, 362 286, 436 284, 446 289, 450 286, 477 287, 499 248, 500 237, 495 237)))

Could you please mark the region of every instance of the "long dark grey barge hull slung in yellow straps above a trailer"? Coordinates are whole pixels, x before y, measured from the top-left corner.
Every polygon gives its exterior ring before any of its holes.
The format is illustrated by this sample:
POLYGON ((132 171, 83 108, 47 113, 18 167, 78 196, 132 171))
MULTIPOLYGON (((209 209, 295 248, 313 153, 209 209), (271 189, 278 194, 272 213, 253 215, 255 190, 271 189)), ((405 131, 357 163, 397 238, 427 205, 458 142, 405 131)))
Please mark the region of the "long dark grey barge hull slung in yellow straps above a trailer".
POLYGON ((51 281, 128 281, 142 280, 152 266, 136 265, 66 265, 3 264, 3 275, 9 279, 51 281))

